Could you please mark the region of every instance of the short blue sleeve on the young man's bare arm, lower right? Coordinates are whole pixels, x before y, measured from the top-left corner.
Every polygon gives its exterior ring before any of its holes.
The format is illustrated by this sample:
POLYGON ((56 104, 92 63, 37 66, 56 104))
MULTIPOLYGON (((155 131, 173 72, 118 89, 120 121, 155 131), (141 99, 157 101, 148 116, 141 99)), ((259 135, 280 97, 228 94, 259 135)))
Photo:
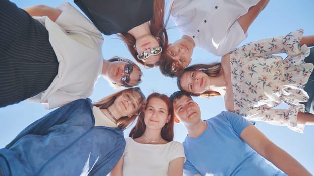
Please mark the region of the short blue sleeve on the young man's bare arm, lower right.
POLYGON ((250 122, 236 113, 229 112, 229 111, 223 111, 222 113, 223 113, 224 117, 227 118, 227 120, 231 124, 233 130, 237 133, 238 136, 240 136, 242 131, 247 126, 249 126, 251 124, 255 125, 255 122, 250 122))

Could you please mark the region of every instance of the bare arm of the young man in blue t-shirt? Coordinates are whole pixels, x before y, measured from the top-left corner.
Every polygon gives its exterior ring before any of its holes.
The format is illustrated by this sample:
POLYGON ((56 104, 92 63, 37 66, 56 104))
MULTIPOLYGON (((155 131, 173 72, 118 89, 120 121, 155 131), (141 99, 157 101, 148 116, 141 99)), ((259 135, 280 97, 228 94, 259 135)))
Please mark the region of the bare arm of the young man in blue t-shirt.
POLYGON ((271 142, 254 125, 246 127, 240 137, 257 153, 272 162, 286 174, 311 175, 297 160, 271 142))

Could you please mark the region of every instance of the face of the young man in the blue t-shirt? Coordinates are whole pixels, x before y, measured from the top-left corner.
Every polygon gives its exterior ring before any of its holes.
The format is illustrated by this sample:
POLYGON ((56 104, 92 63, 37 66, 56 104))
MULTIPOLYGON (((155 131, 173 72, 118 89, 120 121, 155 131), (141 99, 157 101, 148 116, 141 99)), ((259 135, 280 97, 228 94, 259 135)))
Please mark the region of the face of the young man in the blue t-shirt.
POLYGON ((185 126, 196 124, 201 120, 199 106, 186 95, 176 99, 173 108, 176 117, 185 126))

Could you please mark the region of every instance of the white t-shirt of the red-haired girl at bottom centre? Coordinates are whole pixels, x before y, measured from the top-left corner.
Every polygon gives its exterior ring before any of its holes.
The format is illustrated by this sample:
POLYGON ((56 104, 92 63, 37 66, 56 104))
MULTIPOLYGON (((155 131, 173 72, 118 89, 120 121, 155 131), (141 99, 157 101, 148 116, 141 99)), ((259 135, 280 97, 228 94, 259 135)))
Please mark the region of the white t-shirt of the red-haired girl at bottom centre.
POLYGON ((141 144, 125 138, 123 176, 167 175, 170 161, 184 157, 183 145, 177 141, 166 144, 141 144))

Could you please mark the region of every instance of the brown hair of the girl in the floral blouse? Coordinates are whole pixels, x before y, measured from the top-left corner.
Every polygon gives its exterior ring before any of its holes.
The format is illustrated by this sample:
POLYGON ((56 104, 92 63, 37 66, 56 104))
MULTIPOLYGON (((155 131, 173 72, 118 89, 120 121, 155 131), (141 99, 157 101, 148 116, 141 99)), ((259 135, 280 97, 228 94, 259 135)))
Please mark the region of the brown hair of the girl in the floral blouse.
MULTIPOLYGON (((198 70, 201 70, 202 72, 204 72, 205 74, 207 74, 208 76, 210 77, 215 77, 218 75, 219 71, 220 71, 220 67, 221 67, 221 64, 216 62, 216 63, 211 63, 211 64, 195 64, 195 65, 191 65, 189 67, 186 67, 184 69, 184 72, 186 71, 196 71, 197 69, 198 70)), ((177 78, 177 85, 178 85, 178 88, 181 90, 181 91, 186 91, 186 90, 183 90, 182 89, 182 86, 180 85, 180 79, 181 79, 181 76, 180 75, 178 78, 177 78)), ((201 94, 195 94, 195 93, 191 93, 191 92, 188 92, 191 96, 201 96, 201 97, 206 97, 206 98, 210 98, 210 97, 214 97, 214 96, 220 96, 220 93, 219 92, 216 92, 216 91, 205 91, 201 94)))

